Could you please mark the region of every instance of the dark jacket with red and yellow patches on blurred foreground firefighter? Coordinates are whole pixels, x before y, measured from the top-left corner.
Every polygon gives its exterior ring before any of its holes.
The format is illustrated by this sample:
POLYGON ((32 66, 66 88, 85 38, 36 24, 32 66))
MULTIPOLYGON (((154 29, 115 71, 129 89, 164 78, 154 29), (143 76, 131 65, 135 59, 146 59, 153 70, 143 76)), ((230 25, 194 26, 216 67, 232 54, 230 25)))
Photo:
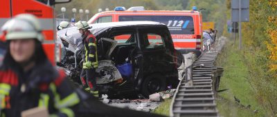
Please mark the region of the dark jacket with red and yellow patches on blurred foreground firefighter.
POLYGON ((19 117, 34 107, 46 107, 51 116, 75 116, 78 94, 62 70, 49 61, 28 72, 19 67, 0 67, 0 116, 19 117))

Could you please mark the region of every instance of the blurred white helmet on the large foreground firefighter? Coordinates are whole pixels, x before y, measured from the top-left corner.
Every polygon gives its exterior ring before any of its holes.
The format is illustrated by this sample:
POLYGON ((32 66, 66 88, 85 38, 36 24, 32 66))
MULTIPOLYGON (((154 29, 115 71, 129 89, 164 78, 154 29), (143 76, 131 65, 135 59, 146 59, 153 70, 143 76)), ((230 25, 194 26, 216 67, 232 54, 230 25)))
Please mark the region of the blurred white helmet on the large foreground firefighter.
POLYGON ((19 14, 8 21, 6 40, 37 39, 43 41, 42 28, 33 14, 19 14))

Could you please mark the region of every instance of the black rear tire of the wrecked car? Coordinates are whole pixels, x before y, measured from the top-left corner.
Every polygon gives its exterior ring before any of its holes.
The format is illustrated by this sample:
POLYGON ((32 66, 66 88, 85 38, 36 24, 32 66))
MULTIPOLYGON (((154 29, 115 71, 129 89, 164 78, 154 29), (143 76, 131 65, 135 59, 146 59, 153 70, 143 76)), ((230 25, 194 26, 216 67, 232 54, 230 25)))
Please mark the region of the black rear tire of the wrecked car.
POLYGON ((146 77, 141 86, 141 93, 147 98, 150 94, 164 90, 166 90, 166 78, 159 74, 153 74, 146 77))

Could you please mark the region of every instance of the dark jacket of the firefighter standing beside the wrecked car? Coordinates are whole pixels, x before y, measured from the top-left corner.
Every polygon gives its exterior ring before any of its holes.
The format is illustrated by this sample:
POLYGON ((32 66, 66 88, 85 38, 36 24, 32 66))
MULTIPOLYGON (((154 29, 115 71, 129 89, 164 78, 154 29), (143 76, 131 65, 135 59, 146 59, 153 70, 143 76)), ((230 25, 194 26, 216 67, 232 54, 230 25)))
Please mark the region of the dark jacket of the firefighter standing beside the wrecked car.
POLYGON ((93 68, 98 67, 98 55, 96 37, 90 32, 83 36, 82 43, 84 44, 83 69, 89 69, 87 62, 91 63, 93 68))

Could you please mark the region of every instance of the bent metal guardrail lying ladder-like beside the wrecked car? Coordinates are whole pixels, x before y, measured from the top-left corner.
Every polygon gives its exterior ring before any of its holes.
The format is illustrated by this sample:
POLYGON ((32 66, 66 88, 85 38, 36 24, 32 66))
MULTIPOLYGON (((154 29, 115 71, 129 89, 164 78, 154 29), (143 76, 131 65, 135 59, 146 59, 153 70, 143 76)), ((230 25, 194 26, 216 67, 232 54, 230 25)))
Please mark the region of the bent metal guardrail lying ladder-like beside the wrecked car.
POLYGON ((215 97, 223 68, 215 67, 217 50, 204 52, 185 68, 182 80, 172 98, 170 116, 219 116, 215 97))

